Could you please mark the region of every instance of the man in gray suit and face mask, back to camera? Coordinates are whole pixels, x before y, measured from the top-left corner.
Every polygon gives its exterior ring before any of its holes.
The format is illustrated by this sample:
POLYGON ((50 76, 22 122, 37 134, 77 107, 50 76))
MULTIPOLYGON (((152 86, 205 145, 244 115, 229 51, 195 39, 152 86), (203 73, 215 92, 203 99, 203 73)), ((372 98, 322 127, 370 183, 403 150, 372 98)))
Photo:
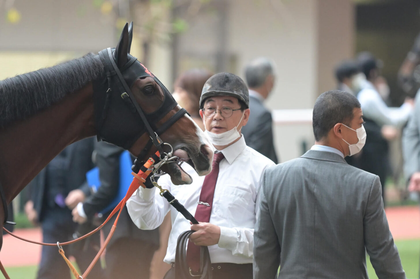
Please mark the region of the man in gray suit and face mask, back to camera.
POLYGON ((254 232, 254 279, 405 278, 383 210, 379 177, 347 165, 366 140, 352 94, 321 94, 313 109, 315 145, 267 168, 254 232))

